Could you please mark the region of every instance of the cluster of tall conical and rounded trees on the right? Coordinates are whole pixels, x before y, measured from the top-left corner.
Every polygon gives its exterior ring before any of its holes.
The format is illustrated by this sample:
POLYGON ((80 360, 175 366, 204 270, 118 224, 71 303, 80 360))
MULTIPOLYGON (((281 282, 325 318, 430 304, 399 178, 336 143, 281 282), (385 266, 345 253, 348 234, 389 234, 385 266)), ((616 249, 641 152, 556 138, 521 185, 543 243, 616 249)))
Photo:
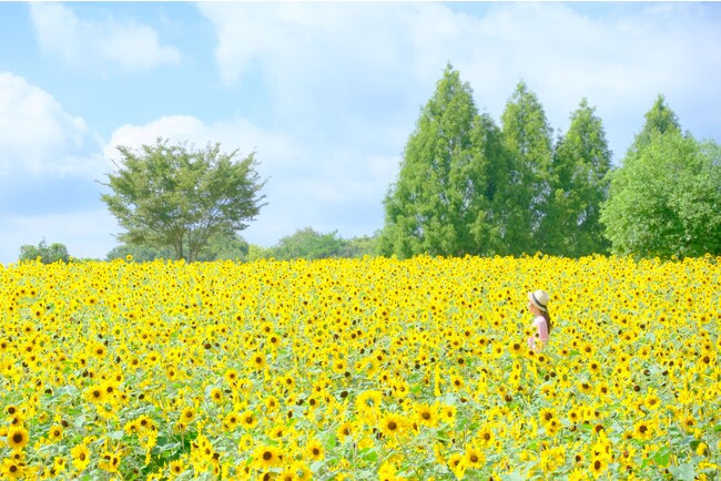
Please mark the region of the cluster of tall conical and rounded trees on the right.
POLYGON ((721 254, 721 155, 659 95, 618 168, 586 99, 552 129, 519 82, 498 126, 450 64, 384 199, 383 255, 721 254))

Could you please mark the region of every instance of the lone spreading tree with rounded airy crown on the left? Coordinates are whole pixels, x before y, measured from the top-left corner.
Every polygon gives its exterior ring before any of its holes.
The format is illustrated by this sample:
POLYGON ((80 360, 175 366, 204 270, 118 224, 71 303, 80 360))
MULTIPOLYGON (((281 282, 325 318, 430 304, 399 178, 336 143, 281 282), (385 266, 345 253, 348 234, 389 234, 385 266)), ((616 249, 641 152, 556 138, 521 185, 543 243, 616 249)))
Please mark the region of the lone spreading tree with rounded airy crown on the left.
POLYGON ((221 153, 217 143, 193 152, 162 139, 140 152, 118 151, 121 165, 103 184, 113 193, 101 198, 129 245, 171 248, 175 258, 196 260, 214 235, 244 229, 264 205, 254 154, 235 161, 237 151, 221 153))

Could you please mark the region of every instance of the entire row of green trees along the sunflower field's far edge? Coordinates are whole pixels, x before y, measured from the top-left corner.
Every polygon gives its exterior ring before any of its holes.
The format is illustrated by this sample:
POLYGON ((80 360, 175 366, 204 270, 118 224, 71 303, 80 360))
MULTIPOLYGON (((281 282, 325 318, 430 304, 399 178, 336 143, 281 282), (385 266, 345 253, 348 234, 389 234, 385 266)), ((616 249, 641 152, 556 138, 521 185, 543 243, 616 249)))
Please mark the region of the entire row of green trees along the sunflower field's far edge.
MULTIPOLYGON (((102 201, 124 232, 106 259, 317 259, 428 254, 688 257, 721 254, 721 149, 683 132, 658 95, 620 165, 603 123, 581 99, 554 137, 520 81, 500 125, 480 113, 450 63, 405 145, 373 236, 311 227, 272 247, 238 235, 265 205, 255 153, 189 149, 158 139, 118 146, 102 201)), ((21 259, 68 260, 62 244, 21 247, 21 259)))

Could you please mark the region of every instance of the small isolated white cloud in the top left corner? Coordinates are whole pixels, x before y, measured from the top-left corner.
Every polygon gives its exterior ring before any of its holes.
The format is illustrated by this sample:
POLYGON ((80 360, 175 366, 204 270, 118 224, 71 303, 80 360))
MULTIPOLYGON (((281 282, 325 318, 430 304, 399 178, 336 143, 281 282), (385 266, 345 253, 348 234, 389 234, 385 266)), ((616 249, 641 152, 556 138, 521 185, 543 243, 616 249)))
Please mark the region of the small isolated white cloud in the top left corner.
POLYGON ((71 69, 134 72, 181 59, 177 49, 160 44, 148 25, 84 21, 61 3, 31 2, 30 11, 40 47, 71 69))

